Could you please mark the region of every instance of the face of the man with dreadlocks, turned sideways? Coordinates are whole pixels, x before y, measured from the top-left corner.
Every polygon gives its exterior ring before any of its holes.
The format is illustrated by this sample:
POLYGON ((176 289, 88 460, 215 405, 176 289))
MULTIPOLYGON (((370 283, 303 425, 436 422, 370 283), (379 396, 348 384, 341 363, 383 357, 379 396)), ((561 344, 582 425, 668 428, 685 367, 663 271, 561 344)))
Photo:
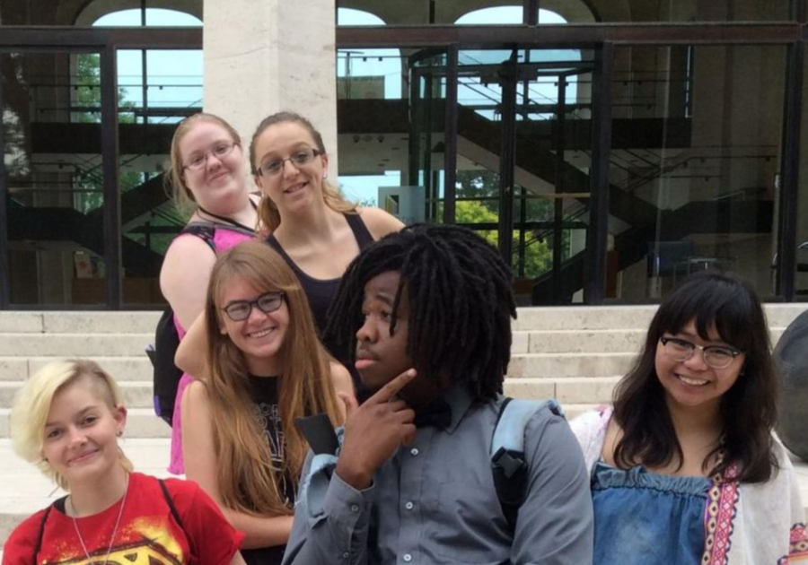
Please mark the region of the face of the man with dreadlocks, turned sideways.
MULTIPOLYGON (((356 369, 364 385, 376 390, 412 368, 407 353, 409 300, 401 294, 396 328, 390 335, 392 305, 399 288, 395 271, 374 276, 364 285, 364 324, 356 332, 356 369)), ((410 383, 411 384, 411 383, 410 383)))

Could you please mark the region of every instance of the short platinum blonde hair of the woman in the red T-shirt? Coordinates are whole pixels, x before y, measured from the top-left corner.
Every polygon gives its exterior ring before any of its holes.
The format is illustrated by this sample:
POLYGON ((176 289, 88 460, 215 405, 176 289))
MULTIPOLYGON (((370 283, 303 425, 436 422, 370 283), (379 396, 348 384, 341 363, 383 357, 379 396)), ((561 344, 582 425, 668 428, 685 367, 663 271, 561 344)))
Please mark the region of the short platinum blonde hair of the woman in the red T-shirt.
MULTIPOLYGON (((115 379, 101 369, 95 361, 73 359, 48 363, 22 386, 11 410, 10 427, 13 449, 26 461, 37 465, 40 471, 63 490, 69 490, 65 477, 42 457, 45 443, 45 422, 54 397, 80 378, 92 378, 93 388, 110 409, 123 405, 123 396, 115 379)), ((118 448, 120 465, 131 472, 132 462, 118 448)))

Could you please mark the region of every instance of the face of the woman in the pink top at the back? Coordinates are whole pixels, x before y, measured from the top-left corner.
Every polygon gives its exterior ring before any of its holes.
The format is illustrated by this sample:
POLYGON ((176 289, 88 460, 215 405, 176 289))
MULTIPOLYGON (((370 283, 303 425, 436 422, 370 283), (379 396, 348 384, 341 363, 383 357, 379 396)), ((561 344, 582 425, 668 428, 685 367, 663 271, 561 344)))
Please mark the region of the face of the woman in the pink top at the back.
POLYGON ((198 204, 213 213, 228 211, 232 202, 247 196, 242 148, 235 145, 231 152, 216 156, 233 143, 224 126, 207 120, 198 120, 180 139, 182 178, 198 204), (187 166, 200 157, 206 158, 200 168, 187 166))

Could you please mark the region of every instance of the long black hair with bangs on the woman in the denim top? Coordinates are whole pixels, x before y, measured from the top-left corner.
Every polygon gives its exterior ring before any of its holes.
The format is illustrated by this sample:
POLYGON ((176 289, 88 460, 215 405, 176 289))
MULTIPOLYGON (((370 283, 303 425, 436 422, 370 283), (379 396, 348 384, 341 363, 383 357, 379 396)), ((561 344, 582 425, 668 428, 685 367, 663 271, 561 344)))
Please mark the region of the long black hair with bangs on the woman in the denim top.
POLYGON ((656 373, 655 356, 663 334, 675 335, 691 321, 702 339, 709 340, 709 331, 715 328, 745 358, 740 376, 721 398, 720 445, 705 458, 702 468, 710 475, 725 475, 736 464, 738 481, 766 482, 777 469, 771 436, 777 422, 777 376, 766 316, 748 282, 713 271, 689 276, 663 300, 648 327, 643 351, 615 389, 614 418, 623 436, 614 461, 628 468, 638 463, 669 465, 675 460, 681 468, 681 445, 656 373))

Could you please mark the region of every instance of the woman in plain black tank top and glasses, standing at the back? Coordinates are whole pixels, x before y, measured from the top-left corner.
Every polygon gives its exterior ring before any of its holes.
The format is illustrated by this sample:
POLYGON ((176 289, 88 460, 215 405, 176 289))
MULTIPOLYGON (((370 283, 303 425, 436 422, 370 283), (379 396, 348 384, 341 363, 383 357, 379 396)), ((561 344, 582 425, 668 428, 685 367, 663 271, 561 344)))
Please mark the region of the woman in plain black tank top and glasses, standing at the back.
MULTIPOLYGON (((379 208, 347 202, 329 184, 322 135, 293 112, 261 121, 250 142, 250 166, 264 196, 259 217, 271 232, 267 243, 297 275, 321 332, 347 265, 361 249, 404 224, 379 208)), ((324 344, 343 354, 334 343, 324 344)), ((358 374, 354 377, 359 384, 358 374)))

